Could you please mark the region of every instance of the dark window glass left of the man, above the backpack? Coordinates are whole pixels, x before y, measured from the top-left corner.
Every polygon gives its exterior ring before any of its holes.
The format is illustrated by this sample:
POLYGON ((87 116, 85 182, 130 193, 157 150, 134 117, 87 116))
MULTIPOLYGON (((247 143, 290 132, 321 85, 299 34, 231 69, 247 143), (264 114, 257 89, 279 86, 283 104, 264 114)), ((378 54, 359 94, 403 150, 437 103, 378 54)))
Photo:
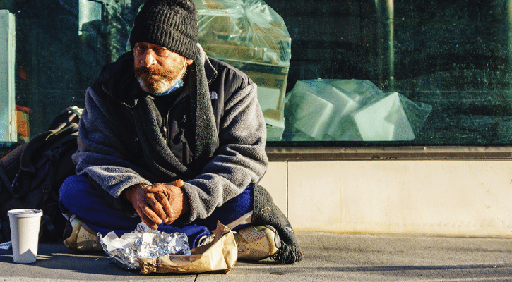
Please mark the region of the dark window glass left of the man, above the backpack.
POLYGON ((84 105, 85 89, 102 66, 126 51, 139 5, 114 0, 0 1, 0 9, 16 19, 18 142, 46 130, 66 107, 84 105))

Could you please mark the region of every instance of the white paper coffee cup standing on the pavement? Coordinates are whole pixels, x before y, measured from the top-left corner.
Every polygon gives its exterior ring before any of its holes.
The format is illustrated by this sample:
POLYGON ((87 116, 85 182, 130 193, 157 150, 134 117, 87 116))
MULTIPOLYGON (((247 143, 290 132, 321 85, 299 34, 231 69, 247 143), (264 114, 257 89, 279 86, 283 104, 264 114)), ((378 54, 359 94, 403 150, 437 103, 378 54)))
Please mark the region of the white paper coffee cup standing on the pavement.
POLYGON ((14 262, 20 264, 35 262, 42 211, 40 209, 11 209, 7 214, 11 223, 14 262))

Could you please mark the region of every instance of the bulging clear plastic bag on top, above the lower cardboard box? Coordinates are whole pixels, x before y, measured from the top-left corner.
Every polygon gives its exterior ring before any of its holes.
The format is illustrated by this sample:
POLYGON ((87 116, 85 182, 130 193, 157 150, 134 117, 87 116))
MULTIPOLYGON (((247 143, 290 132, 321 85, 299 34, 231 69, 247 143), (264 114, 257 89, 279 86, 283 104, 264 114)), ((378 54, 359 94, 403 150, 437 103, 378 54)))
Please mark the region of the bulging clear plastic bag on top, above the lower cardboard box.
POLYGON ((261 0, 195 0, 199 43, 208 56, 290 66, 284 20, 261 0))

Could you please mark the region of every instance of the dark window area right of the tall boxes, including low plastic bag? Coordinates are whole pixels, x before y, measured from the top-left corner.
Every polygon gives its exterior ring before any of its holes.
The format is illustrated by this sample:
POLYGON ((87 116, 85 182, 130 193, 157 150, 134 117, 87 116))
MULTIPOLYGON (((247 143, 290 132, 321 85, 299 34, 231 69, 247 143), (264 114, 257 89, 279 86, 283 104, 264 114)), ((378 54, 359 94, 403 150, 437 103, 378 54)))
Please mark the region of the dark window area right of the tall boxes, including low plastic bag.
POLYGON ((292 37, 282 139, 302 140, 285 144, 511 144, 509 1, 293 3, 274 7, 292 37))

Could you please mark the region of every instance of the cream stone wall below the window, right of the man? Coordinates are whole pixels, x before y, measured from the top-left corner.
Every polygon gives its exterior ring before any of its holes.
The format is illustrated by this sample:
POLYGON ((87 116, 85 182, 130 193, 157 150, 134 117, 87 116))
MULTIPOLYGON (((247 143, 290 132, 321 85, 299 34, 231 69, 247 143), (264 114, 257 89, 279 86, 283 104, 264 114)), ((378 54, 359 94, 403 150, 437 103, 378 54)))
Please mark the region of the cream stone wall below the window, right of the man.
POLYGON ((511 161, 272 161, 261 185, 297 231, 512 235, 511 161))

